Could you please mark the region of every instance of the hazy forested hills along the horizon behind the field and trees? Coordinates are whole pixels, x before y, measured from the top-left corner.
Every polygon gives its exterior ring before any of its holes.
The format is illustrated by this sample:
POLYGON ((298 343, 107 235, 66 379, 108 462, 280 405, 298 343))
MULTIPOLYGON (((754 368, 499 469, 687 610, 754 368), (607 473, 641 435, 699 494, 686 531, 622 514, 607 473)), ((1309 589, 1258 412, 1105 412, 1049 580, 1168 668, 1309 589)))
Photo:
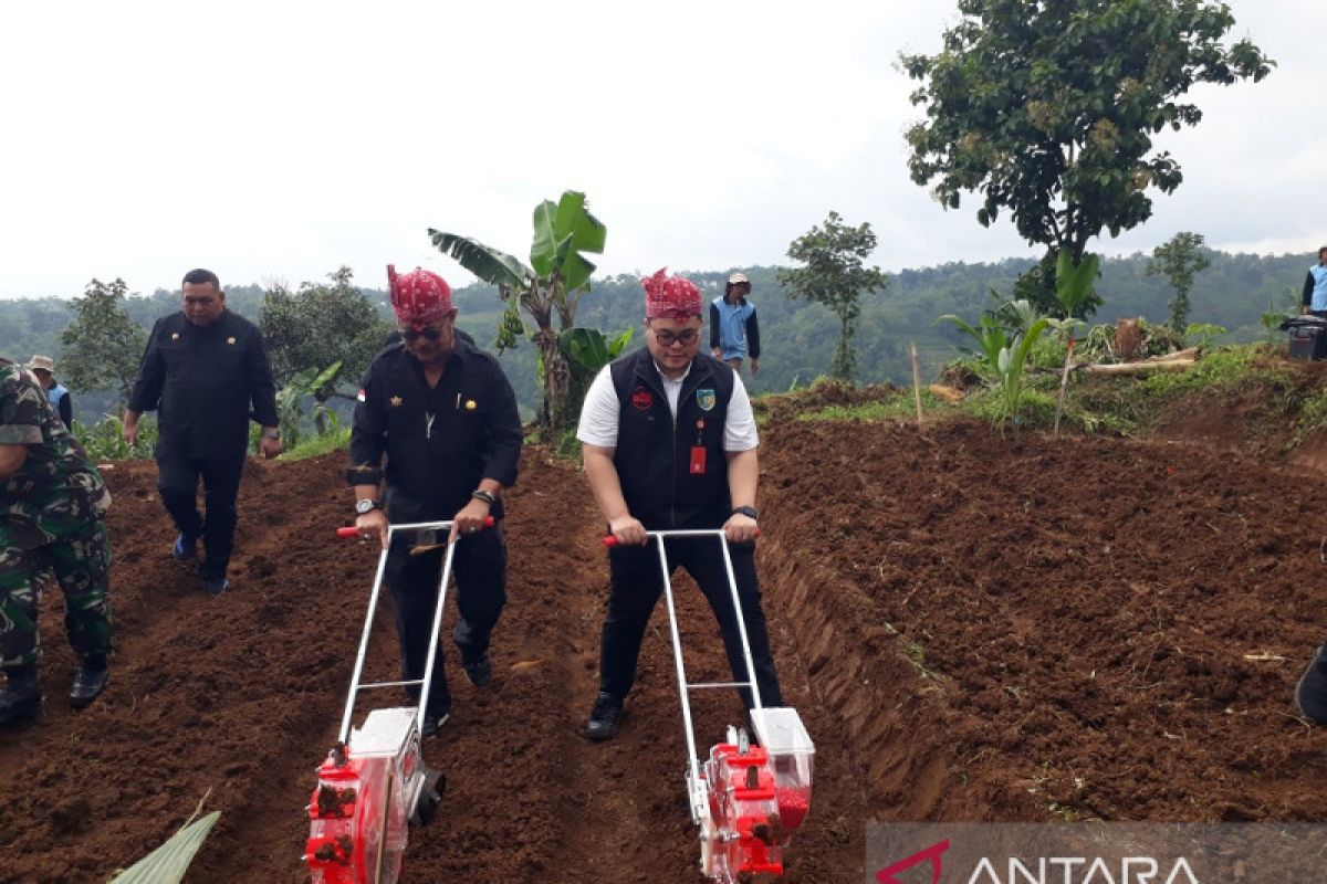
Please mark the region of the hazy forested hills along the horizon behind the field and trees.
MULTIPOLYGON (((1229 341, 1253 341, 1263 334, 1259 315, 1267 311, 1269 298, 1277 309, 1298 302, 1304 272, 1314 253, 1258 256, 1212 252, 1212 266, 1198 274, 1193 289, 1192 322, 1209 322, 1229 329, 1229 341)), ((1097 322, 1115 322, 1121 317, 1145 317, 1161 322, 1166 317, 1170 289, 1162 277, 1145 274, 1148 256, 1133 254, 1109 258, 1103 265, 1097 292, 1105 304, 1095 317, 1097 322)), ((860 380, 909 383, 912 367, 908 349, 916 342, 924 378, 940 374, 945 362, 959 354, 962 338, 947 326, 936 326, 937 317, 957 313, 975 321, 991 304, 991 290, 1007 294, 1014 280, 1031 261, 1010 258, 997 264, 951 262, 941 266, 902 270, 889 274, 889 289, 864 301, 856 346, 860 380)), ((804 386, 827 371, 833 343, 839 335, 837 319, 819 305, 790 301, 780 289, 778 268, 742 268, 751 278, 751 301, 760 318, 763 355, 760 374, 747 375, 752 392, 786 391, 804 386)), ((686 273, 701 286, 707 298, 723 290, 725 272, 686 273)), ((386 293, 365 289, 389 313, 386 293)), ((129 300, 130 315, 150 327, 161 315, 178 309, 178 294, 157 290, 150 296, 129 300)), ((502 313, 495 288, 470 285, 455 292, 460 309, 459 325, 486 347, 491 347, 494 329, 502 313)), ((640 329, 642 293, 636 277, 614 276, 593 282, 581 298, 577 325, 605 331, 640 329)), ((249 318, 257 318, 263 301, 261 286, 230 286, 227 305, 249 318)), ((69 321, 66 302, 60 298, 0 301, 0 355, 27 360, 33 353, 58 358, 60 333, 69 321)), ((539 400, 535 374, 535 350, 522 343, 502 357, 524 410, 539 400)), ((58 374, 58 372, 57 372, 58 374)), ((78 395, 77 416, 94 420, 109 407, 109 398, 78 395), (90 414, 88 414, 90 412, 90 414)))

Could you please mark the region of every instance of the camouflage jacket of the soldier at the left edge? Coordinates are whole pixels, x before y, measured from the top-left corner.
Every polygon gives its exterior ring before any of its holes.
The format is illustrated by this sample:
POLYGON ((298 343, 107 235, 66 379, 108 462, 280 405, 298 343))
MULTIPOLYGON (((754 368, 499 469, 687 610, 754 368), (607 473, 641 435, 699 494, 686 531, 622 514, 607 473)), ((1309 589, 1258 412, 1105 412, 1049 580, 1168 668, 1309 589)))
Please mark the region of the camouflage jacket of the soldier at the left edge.
POLYGON ((110 492, 52 408, 37 379, 0 358, 0 445, 28 456, 0 486, 0 546, 32 549, 76 537, 104 517, 110 492))

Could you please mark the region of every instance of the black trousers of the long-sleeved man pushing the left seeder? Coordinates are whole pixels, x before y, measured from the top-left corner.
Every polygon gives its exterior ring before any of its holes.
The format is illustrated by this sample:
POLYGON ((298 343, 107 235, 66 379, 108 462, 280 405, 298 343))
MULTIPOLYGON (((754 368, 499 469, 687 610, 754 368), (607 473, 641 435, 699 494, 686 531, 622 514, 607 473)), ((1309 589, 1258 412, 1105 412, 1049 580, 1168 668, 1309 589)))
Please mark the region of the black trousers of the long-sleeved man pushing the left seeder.
MULTIPOLYGON (((446 534, 439 534, 446 542, 446 534)), ((414 533, 394 534, 387 550, 387 586, 397 606, 397 637, 401 640, 401 679, 423 677, 429 663, 429 637, 433 612, 438 604, 438 580, 446 547, 411 555, 414 533)), ((502 527, 492 527, 456 541, 451 569, 456 575, 456 627, 453 640, 462 663, 482 660, 488 653, 488 639, 507 603, 507 539, 502 527)), ((413 700, 419 689, 407 689, 413 700)), ((451 708, 451 693, 443 669, 442 648, 434 664, 433 684, 426 709, 443 713, 451 708)))

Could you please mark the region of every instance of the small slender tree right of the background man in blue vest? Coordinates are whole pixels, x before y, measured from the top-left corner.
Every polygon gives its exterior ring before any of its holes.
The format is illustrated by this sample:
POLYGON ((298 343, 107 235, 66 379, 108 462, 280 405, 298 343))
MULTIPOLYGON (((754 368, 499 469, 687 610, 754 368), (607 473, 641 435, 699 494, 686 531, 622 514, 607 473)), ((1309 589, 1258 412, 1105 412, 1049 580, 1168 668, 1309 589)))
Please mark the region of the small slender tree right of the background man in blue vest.
POLYGON ((779 285, 790 289, 788 297, 823 304, 839 317, 839 345, 829 374, 851 383, 857 372, 852 337, 861 315, 861 294, 884 289, 889 280, 880 268, 863 266, 876 250, 871 223, 851 227, 841 221, 837 212, 829 212, 823 225, 811 228, 788 245, 788 257, 805 266, 779 270, 779 285))

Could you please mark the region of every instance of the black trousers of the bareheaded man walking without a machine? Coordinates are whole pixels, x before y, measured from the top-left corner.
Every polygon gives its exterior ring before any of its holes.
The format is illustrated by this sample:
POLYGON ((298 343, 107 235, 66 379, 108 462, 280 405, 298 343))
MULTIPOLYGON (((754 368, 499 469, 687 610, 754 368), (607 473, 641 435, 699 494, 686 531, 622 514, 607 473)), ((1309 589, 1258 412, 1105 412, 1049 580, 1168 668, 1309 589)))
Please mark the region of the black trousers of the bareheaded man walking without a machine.
POLYGON ((171 445, 157 447, 157 490, 175 527, 202 538, 203 577, 226 577, 235 550, 235 497, 240 492, 244 453, 220 460, 191 457, 171 445), (198 512, 198 481, 203 480, 204 514, 198 512))

